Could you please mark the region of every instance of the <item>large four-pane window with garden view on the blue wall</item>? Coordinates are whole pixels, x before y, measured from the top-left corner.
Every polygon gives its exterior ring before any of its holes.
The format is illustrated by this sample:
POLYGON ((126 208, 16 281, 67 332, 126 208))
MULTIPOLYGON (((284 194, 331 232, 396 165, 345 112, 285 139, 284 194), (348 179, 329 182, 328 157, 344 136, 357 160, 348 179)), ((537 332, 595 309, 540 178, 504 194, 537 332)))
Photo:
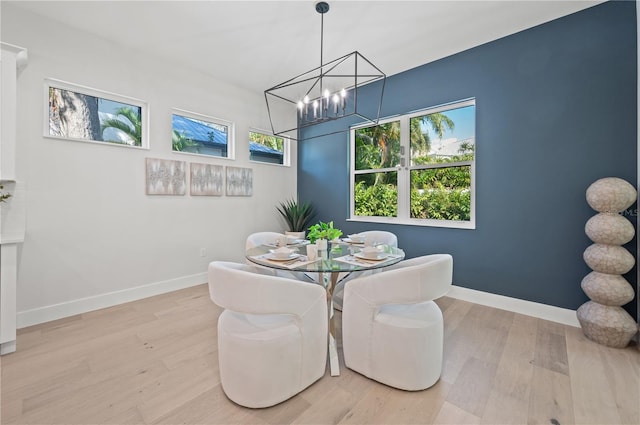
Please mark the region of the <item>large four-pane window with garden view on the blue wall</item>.
POLYGON ((351 129, 351 219, 475 228, 475 100, 351 129))

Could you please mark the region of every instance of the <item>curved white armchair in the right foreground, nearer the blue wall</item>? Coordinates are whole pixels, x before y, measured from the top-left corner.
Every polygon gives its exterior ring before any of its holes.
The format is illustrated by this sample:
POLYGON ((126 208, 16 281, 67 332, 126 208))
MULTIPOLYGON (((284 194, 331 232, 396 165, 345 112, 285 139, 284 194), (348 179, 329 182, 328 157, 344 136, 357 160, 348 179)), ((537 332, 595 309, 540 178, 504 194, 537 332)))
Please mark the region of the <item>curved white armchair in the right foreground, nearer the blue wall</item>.
POLYGON ((451 287, 448 254, 401 261, 345 286, 342 347, 345 365, 408 391, 429 388, 442 372, 443 320, 432 300, 451 287))

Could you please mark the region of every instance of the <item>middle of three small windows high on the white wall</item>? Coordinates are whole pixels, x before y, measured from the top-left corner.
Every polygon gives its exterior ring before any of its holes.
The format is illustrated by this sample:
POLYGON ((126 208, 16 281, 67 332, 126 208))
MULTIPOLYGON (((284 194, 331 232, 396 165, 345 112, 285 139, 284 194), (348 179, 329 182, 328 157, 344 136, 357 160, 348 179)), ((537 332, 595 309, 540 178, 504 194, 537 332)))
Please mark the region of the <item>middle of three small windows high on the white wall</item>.
POLYGON ((233 158, 233 123, 174 109, 171 144, 174 152, 233 158))

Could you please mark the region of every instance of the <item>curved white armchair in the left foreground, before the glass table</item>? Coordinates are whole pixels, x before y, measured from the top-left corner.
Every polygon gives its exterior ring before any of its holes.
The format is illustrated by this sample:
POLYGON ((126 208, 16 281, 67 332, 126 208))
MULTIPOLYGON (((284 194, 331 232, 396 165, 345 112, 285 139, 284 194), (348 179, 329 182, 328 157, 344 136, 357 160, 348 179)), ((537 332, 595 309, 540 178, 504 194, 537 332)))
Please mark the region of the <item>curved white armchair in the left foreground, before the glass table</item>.
POLYGON ((268 407, 321 378, 327 362, 327 299, 320 285, 209 264, 218 319, 220 381, 245 407, 268 407))

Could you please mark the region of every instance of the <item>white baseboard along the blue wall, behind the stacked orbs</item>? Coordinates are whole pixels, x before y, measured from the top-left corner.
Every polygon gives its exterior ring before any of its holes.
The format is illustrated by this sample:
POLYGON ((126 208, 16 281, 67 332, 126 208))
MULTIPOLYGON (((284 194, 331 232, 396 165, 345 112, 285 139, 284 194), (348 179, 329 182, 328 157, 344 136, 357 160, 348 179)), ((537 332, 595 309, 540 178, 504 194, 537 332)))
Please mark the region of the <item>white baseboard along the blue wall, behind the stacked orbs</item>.
POLYGON ((463 288, 455 285, 451 287, 447 296, 475 304, 525 314, 539 319, 550 320, 552 322, 562 323, 576 328, 580 327, 575 310, 505 297, 504 295, 490 294, 488 292, 476 291, 475 289, 463 288))

